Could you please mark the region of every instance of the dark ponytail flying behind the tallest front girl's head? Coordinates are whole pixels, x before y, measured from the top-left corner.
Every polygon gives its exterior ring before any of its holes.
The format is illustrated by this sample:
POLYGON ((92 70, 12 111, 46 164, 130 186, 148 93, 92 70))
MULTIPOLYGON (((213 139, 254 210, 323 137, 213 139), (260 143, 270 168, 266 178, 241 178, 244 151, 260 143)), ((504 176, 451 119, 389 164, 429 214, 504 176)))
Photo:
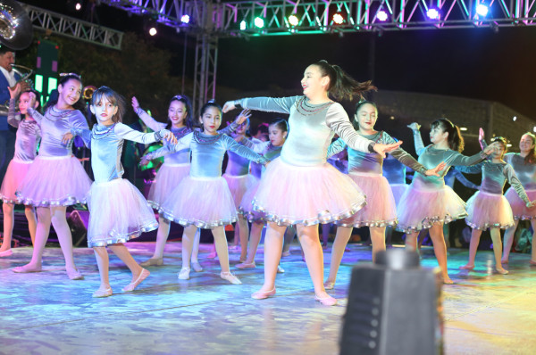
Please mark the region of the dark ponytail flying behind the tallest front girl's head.
POLYGON ((373 86, 371 80, 360 83, 354 78, 350 77, 339 65, 331 65, 326 61, 315 62, 322 74, 322 77, 330 77, 330 85, 328 86, 328 92, 336 100, 352 100, 354 95, 363 97, 363 93, 371 90, 377 90, 377 87, 373 86))

